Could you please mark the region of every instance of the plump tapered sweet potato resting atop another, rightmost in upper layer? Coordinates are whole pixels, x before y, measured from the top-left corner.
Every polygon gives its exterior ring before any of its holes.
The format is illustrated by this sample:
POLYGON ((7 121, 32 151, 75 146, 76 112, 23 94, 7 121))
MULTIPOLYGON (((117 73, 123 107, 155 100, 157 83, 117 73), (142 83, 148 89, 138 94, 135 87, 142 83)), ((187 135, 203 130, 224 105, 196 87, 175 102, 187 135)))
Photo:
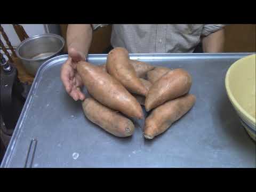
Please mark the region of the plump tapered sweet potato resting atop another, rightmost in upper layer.
POLYGON ((188 93, 192 78, 184 69, 174 69, 162 76, 149 89, 145 108, 154 109, 164 102, 175 99, 188 93))

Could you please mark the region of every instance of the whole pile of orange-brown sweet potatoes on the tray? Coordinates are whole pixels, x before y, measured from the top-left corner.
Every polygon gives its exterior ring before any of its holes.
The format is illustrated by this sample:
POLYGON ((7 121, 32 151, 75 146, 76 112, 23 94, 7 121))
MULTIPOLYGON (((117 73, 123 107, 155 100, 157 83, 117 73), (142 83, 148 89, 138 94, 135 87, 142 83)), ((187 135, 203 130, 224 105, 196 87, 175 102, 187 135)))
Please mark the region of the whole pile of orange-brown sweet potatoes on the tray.
POLYGON ((77 71, 90 94, 82 102, 85 116, 117 137, 133 134, 131 118, 146 118, 144 136, 153 139, 185 115, 196 101, 189 94, 192 78, 186 70, 131 60, 122 47, 108 53, 105 65, 80 61, 77 71), (148 117, 144 117, 141 106, 149 112, 148 117))

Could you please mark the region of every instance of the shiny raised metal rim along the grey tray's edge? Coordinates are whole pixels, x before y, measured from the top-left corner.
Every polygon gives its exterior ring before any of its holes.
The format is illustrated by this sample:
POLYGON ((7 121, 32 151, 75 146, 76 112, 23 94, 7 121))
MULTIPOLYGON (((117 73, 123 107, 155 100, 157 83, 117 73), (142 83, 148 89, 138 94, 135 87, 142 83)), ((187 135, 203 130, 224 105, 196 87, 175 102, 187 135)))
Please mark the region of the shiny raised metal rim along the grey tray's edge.
MULTIPOLYGON (((231 58, 231 59, 239 59, 242 57, 245 57, 247 55, 250 54, 255 54, 256 52, 246 52, 246 53, 131 53, 130 58, 132 59, 153 59, 153 60, 157 60, 157 59, 177 59, 177 58, 182 58, 182 59, 218 59, 218 58, 231 58)), ((87 55, 87 60, 91 59, 91 60, 105 60, 107 57, 107 54, 88 54, 87 55)), ((25 104, 22 108, 20 117, 18 119, 17 125, 15 126, 15 129, 13 131, 11 140, 9 142, 9 146, 7 147, 4 157, 2 159, 2 163, 0 165, 0 168, 4 168, 4 167, 8 167, 9 166, 9 162, 10 162, 10 158, 12 157, 13 154, 13 149, 17 143, 17 140, 19 138, 20 135, 20 131, 22 128, 22 124, 23 122, 26 120, 26 113, 27 113, 27 109, 30 106, 31 100, 33 99, 33 92, 35 92, 36 87, 37 87, 37 82, 42 78, 42 74, 44 72, 44 70, 53 62, 57 62, 57 60, 63 60, 63 59, 67 59, 68 58, 68 54, 61 54, 58 55, 56 57, 53 57, 47 61, 45 61, 41 67, 39 67, 36 76, 34 78, 34 82, 31 85, 30 91, 28 93, 28 97, 25 101, 25 104)))

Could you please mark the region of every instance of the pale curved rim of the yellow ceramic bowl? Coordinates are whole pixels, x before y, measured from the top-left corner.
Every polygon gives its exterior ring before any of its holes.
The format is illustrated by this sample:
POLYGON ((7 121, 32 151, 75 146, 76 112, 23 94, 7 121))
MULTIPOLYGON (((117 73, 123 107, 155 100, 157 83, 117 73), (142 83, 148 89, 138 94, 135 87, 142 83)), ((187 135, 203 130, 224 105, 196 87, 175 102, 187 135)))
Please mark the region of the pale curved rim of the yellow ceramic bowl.
POLYGON ((228 94, 228 97, 229 97, 229 100, 231 101, 231 103, 237 107, 239 110, 241 110, 242 114, 245 115, 246 118, 248 118, 255 126, 255 118, 253 116, 251 116, 246 110, 244 110, 244 108, 238 103, 238 101, 235 99, 234 95, 232 94, 231 90, 230 90, 230 87, 229 87, 229 82, 228 82, 228 79, 229 79, 229 76, 230 76, 230 71, 231 69, 233 69, 236 65, 239 65, 239 63, 242 61, 242 60, 245 60, 249 57, 256 57, 256 54, 251 54, 251 55, 247 55, 246 57, 243 57, 241 59, 238 59, 237 61, 235 61, 228 69, 227 73, 226 73, 226 77, 225 77, 225 86, 226 86, 226 91, 227 91, 227 94, 228 94))

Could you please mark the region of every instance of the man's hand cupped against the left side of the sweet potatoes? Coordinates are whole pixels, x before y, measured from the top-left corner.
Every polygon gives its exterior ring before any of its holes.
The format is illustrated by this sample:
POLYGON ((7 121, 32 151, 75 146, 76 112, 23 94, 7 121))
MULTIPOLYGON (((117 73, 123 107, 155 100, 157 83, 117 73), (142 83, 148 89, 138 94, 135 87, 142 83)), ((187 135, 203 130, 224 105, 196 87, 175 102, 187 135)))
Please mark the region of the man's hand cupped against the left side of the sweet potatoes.
POLYGON ((70 97, 75 101, 84 100, 85 95, 81 92, 83 82, 81 76, 77 73, 76 66, 78 61, 85 60, 85 56, 74 48, 69 49, 68 56, 68 60, 61 67, 61 81, 70 97))

